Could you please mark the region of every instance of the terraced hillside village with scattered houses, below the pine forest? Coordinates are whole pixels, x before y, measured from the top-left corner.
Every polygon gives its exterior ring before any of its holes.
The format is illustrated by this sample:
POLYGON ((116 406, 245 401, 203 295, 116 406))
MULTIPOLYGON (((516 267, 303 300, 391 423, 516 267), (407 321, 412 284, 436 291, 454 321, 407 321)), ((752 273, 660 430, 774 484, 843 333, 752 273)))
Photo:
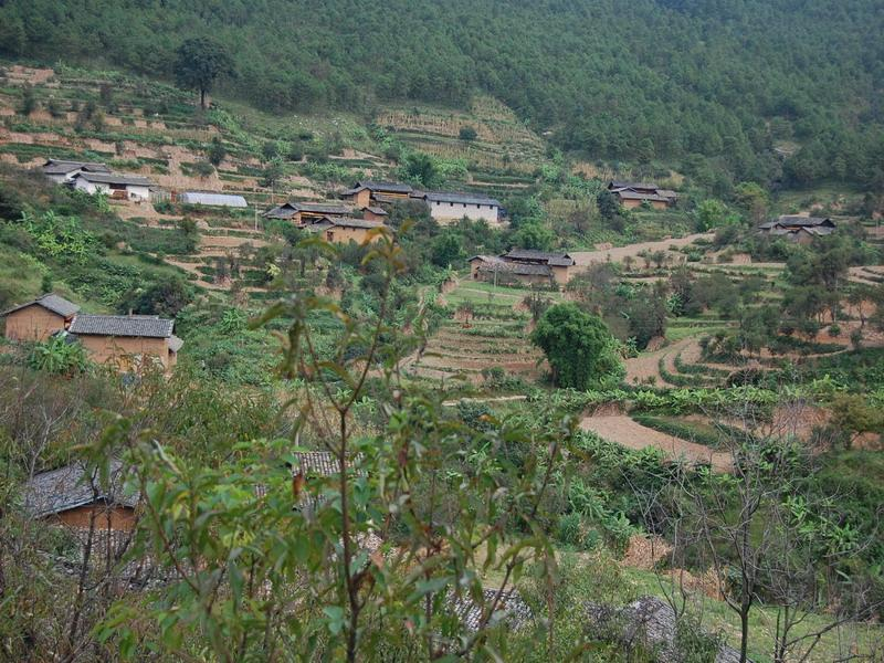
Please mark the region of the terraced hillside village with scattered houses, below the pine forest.
POLYGON ((566 157, 485 96, 367 122, 0 81, 0 536, 41 550, 0 546, 0 606, 7 565, 20 612, 39 575, 74 597, 40 619, 77 614, 4 655, 264 660, 291 612, 345 660, 365 609, 407 625, 359 660, 880 660, 880 192, 566 157))

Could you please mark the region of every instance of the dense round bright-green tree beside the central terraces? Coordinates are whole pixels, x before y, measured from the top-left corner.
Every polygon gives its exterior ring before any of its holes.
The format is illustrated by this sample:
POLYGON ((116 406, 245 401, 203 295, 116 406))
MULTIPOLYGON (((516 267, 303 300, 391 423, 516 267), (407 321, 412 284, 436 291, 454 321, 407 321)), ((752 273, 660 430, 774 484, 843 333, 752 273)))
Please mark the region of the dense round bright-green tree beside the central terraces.
POLYGON ((557 387, 589 389, 602 378, 623 373, 617 339, 608 326, 576 304, 547 308, 532 343, 546 354, 557 387))

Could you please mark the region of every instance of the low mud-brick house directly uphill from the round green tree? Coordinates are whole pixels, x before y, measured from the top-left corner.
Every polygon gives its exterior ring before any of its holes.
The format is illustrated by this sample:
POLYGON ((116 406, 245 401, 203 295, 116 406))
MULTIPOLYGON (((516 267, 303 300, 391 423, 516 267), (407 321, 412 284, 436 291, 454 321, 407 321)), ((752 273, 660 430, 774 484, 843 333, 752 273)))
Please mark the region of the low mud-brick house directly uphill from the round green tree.
POLYGON ((570 281, 573 266, 567 253, 514 249, 501 255, 474 255, 470 275, 498 284, 562 286, 570 281))

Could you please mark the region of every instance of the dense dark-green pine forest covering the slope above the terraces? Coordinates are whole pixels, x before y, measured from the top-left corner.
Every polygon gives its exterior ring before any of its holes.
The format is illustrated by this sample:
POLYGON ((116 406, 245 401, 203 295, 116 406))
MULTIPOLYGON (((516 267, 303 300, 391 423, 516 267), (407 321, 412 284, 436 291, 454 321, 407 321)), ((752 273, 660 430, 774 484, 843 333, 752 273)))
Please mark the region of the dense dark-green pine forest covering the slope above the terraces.
MULTIPOLYGON (((590 159, 688 175, 865 186, 884 178, 875 0, 8 0, 0 51, 171 76, 186 38, 223 42, 225 92, 273 110, 484 91, 590 159)), ((714 183, 714 182, 709 182, 714 183)))

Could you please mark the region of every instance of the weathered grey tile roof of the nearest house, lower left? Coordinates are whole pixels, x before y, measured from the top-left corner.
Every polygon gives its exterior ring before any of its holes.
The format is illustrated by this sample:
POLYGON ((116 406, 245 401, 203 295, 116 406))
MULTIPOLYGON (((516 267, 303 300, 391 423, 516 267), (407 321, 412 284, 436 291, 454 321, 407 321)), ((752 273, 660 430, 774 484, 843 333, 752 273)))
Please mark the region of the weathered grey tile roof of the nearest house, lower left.
POLYGON ((83 463, 42 472, 24 486, 24 508, 31 516, 40 518, 95 502, 135 507, 139 493, 125 490, 127 474, 116 460, 110 463, 107 485, 99 485, 97 473, 86 472, 83 463))

